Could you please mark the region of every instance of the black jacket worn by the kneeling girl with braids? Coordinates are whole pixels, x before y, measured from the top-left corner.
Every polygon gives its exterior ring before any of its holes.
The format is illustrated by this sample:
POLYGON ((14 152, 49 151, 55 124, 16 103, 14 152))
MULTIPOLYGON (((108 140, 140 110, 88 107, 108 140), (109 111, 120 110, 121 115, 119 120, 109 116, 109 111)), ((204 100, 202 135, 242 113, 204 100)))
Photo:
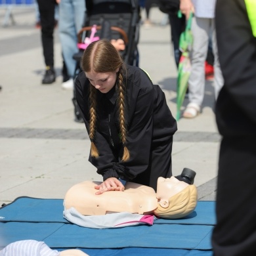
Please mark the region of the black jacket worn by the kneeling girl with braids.
MULTIPOLYGON (((104 180, 117 177, 133 180, 150 165, 152 152, 161 144, 172 143, 177 123, 158 85, 153 85, 148 75, 135 66, 127 66, 125 110, 127 121, 127 148, 129 161, 123 162, 123 145, 119 139, 116 89, 108 93, 97 91, 97 127, 95 144, 100 156, 89 158, 104 180)), ((85 125, 89 127, 89 87, 92 86, 84 72, 75 83, 75 97, 85 125)), ((171 156, 163 156, 171 158, 171 156)))

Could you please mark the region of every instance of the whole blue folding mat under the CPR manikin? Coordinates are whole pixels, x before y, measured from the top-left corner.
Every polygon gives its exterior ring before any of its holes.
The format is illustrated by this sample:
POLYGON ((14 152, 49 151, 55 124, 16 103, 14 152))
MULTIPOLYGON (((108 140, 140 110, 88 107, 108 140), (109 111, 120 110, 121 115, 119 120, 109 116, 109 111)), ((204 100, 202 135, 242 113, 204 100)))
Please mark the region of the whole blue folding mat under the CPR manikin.
POLYGON ((60 250, 80 248, 91 256, 212 255, 215 202, 198 202, 184 219, 158 219, 152 226, 114 229, 68 223, 62 211, 63 200, 27 197, 0 208, 0 248, 33 239, 60 250))

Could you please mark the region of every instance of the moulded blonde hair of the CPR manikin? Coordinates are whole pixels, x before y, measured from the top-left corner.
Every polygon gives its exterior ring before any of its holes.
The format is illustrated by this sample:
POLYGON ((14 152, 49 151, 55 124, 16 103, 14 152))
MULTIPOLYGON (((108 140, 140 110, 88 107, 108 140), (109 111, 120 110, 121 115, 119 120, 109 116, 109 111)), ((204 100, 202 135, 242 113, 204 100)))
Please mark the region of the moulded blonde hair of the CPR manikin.
POLYGON ((158 208, 154 214, 163 219, 180 219, 192 213, 198 202, 198 190, 195 185, 189 185, 184 190, 169 198, 167 208, 161 207, 158 203, 158 208))

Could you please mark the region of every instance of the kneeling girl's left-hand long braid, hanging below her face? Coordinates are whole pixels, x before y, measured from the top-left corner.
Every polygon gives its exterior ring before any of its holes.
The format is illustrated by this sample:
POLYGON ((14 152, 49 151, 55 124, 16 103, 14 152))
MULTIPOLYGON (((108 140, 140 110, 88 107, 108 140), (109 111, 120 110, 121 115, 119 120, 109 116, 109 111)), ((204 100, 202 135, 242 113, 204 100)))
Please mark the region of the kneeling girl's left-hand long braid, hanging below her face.
POLYGON ((90 124, 89 124, 89 138, 91 139, 91 156, 98 158, 98 149, 96 148, 94 139, 96 132, 96 89, 90 86, 90 124))

